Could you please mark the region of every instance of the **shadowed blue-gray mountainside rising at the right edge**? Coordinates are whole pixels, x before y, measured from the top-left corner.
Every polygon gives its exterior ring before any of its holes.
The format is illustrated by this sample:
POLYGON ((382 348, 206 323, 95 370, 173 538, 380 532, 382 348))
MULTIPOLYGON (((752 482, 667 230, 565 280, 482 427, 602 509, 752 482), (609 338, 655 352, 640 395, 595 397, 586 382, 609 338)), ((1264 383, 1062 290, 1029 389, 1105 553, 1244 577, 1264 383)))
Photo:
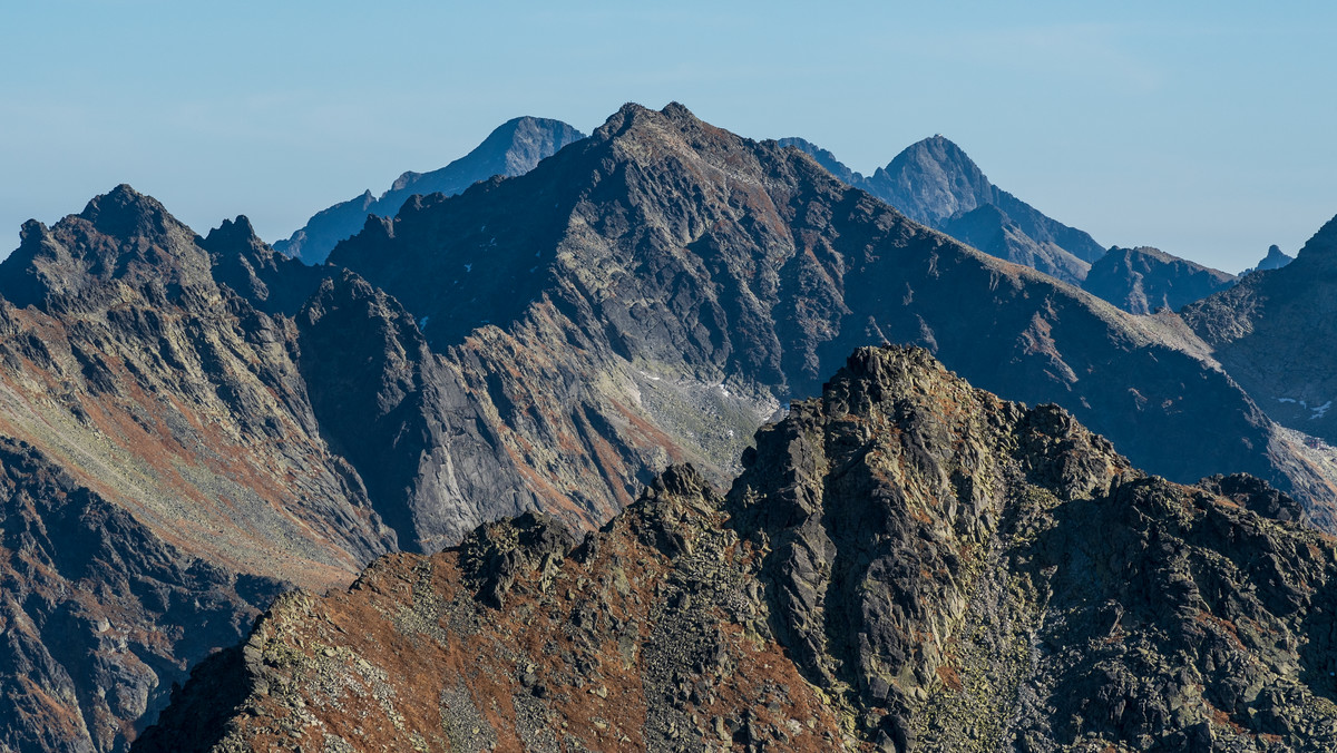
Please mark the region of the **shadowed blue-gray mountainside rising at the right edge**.
POLYGON ((1278 423, 1337 443, 1337 218, 1296 261, 1245 276, 1183 320, 1278 423))

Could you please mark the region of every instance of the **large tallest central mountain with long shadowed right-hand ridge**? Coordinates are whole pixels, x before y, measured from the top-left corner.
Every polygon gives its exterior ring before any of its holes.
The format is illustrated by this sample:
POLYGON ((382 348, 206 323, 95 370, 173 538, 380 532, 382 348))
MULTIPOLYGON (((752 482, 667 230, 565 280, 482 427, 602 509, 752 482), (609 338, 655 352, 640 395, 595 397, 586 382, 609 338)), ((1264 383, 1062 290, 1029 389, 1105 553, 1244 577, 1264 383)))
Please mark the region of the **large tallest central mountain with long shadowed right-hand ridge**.
POLYGON ((882 341, 1058 401, 1173 479, 1247 471, 1332 500, 1178 320, 976 253, 677 104, 627 106, 523 177, 413 201, 330 259, 460 373, 517 469, 496 494, 537 480, 586 520, 671 461, 726 479, 781 404, 882 341))

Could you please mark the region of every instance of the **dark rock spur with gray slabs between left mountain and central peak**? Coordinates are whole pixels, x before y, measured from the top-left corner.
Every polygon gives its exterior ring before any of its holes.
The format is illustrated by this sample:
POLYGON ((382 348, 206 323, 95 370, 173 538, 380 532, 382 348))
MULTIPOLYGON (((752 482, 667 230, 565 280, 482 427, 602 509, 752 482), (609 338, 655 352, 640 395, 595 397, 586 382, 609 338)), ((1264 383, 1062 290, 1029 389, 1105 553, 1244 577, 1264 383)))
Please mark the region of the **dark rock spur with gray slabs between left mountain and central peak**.
POLYGON ((479 522, 537 507, 460 372, 394 298, 345 270, 321 284, 297 329, 321 435, 401 548, 437 551, 479 522))

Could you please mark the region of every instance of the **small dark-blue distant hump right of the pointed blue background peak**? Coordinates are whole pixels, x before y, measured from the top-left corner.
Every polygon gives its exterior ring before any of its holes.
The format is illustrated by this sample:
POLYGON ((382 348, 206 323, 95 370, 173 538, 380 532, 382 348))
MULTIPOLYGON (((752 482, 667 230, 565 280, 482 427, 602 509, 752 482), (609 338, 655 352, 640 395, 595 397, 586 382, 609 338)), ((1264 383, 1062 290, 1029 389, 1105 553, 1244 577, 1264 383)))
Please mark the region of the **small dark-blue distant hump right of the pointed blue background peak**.
POLYGON ((1238 282, 1234 274, 1170 255, 1159 249, 1110 249, 1091 265, 1082 288, 1135 314, 1183 306, 1238 282))

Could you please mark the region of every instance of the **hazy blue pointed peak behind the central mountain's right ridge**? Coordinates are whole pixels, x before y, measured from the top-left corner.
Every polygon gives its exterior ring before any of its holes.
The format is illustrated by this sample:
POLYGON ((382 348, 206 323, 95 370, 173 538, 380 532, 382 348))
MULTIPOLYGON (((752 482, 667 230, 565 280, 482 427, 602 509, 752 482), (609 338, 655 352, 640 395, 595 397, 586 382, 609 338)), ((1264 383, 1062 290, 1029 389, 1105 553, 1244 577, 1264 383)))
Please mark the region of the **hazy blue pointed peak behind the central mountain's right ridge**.
POLYGON ((870 177, 845 167, 804 139, 781 139, 808 152, 842 183, 862 189, 916 222, 976 249, 1080 285, 1104 254, 1086 233, 1050 219, 1000 190, 965 152, 943 136, 924 139, 870 177))

